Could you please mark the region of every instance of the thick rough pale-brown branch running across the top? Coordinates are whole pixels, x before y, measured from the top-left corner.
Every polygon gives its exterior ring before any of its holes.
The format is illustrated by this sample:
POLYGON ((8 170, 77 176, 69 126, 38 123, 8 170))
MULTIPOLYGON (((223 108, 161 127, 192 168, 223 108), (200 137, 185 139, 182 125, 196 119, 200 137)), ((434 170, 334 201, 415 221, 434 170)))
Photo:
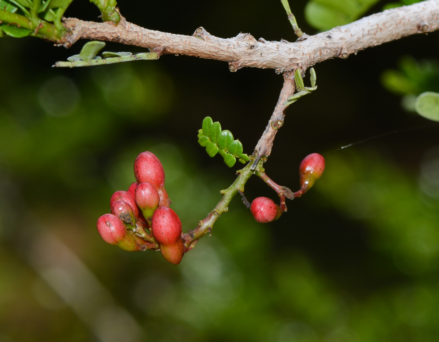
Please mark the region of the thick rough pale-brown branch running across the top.
POLYGON ((278 72, 306 69, 328 58, 347 58, 367 47, 397 40, 415 33, 439 29, 439 0, 428 0, 372 14, 348 25, 309 36, 290 43, 256 40, 249 33, 234 38, 212 36, 202 27, 192 36, 144 29, 121 18, 119 25, 111 22, 85 22, 65 19, 72 34, 64 41, 70 46, 80 38, 109 40, 154 49, 161 54, 185 54, 229 62, 230 71, 242 67, 274 68, 278 72))

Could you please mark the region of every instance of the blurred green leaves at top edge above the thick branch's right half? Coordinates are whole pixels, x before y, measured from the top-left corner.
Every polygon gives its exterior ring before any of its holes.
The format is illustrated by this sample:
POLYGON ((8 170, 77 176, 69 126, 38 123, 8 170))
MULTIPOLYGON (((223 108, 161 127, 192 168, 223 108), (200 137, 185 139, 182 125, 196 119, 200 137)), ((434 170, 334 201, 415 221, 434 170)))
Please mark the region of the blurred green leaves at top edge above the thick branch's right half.
MULTIPOLYGON (((359 19, 379 0, 310 0, 305 7, 305 18, 309 25, 320 31, 335 26, 349 24, 359 19)), ((398 7, 414 4, 416 0, 403 0, 403 3, 389 4, 398 7)), ((386 9, 384 8, 384 9, 386 9)))

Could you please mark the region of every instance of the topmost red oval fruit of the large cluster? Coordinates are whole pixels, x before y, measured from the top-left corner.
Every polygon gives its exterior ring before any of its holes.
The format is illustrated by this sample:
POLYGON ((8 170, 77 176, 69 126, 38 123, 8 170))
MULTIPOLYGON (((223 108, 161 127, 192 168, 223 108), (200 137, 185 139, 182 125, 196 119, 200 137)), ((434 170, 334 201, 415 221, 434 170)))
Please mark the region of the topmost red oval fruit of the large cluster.
POLYGON ((162 163, 149 151, 137 156, 134 162, 134 175, 139 183, 151 183, 156 188, 165 185, 165 171, 162 163))

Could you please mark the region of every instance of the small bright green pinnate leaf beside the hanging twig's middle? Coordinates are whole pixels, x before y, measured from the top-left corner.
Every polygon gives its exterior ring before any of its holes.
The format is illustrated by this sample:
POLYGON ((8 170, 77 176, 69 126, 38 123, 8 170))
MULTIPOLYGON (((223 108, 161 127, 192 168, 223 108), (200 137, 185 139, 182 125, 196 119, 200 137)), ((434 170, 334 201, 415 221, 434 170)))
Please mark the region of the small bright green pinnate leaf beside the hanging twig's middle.
POLYGON ((229 167, 235 165, 236 158, 243 164, 248 162, 248 155, 242 153, 241 141, 233 140, 233 134, 229 130, 222 131, 218 121, 213 122, 210 116, 206 116, 202 127, 198 130, 198 144, 206 148, 210 157, 219 153, 229 167))

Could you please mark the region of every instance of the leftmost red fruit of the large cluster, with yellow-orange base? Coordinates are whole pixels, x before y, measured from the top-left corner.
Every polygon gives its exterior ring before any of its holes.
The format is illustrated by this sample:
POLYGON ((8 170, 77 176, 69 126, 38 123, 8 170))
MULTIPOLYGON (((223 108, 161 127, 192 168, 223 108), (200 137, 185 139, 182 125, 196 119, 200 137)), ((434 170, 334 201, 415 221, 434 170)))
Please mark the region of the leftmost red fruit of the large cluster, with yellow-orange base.
POLYGON ((133 236, 126 231, 125 225, 117 216, 113 214, 105 214, 97 220, 97 231, 101 238, 110 245, 134 252, 140 250, 133 236))

